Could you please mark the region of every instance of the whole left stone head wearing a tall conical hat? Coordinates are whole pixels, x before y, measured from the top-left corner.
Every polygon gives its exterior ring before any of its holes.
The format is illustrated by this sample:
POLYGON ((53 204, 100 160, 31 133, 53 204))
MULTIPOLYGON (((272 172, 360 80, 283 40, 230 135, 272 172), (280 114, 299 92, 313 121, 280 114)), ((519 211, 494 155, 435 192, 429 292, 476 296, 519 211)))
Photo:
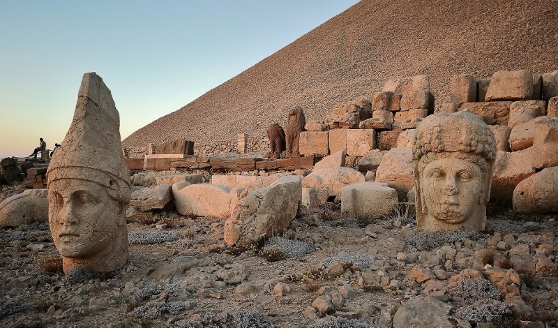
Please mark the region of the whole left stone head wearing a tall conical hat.
POLYGON ((114 271, 128 258, 130 175, 119 128, 103 79, 84 74, 72 124, 47 170, 50 230, 64 272, 114 271))

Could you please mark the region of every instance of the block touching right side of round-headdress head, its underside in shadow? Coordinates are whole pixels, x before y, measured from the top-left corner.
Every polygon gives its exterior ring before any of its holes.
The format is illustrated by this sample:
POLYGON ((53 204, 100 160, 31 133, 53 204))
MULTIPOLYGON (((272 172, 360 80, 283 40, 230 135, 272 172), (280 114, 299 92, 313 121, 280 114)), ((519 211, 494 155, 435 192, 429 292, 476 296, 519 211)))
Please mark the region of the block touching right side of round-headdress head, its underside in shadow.
POLYGON ((492 188, 490 189, 491 199, 511 203, 515 186, 535 173, 531 165, 533 149, 534 147, 529 147, 511 153, 497 151, 494 174, 492 174, 492 188))

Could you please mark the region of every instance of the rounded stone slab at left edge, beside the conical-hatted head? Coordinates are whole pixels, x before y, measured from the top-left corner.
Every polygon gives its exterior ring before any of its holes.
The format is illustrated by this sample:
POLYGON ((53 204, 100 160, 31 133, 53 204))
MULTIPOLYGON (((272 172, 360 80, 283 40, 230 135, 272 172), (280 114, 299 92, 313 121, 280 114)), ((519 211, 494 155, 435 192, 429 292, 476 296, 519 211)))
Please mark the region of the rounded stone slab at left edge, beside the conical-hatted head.
POLYGON ((47 189, 26 189, 0 203, 0 227, 48 222, 47 189))

